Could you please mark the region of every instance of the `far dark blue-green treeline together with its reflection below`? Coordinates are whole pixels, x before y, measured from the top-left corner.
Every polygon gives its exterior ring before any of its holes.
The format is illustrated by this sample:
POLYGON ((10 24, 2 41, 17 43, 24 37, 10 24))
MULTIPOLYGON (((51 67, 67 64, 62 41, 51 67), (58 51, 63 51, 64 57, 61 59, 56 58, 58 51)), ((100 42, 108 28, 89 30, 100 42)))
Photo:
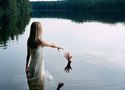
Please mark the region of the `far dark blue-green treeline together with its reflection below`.
POLYGON ((65 18, 74 22, 125 22, 123 0, 65 0, 31 2, 32 17, 65 18))

